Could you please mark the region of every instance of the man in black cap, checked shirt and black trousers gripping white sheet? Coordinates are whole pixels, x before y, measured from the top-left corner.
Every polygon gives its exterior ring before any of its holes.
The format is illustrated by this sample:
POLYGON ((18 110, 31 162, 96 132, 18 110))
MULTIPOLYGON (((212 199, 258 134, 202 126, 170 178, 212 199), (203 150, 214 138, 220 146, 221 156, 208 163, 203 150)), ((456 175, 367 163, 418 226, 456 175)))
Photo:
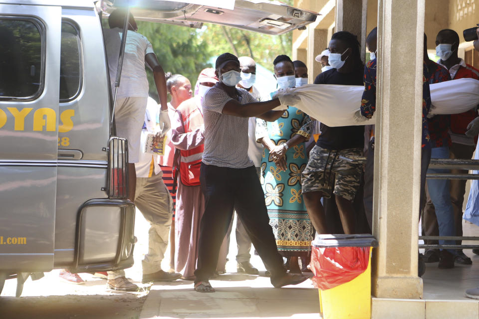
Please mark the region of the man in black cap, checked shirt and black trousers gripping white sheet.
POLYGON ((294 105, 299 98, 293 94, 278 94, 279 99, 256 102, 248 92, 235 87, 240 82, 241 69, 240 61, 231 53, 220 55, 215 68, 220 82, 203 100, 205 149, 200 181, 206 206, 200 227, 195 290, 215 291, 209 279, 215 273, 220 246, 235 209, 271 274, 271 284, 278 288, 298 284, 305 277, 286 274, 283 268, 268 223, 264 193, 253 162, 247 155, 247 118, 274 121, 283 111, 271 112, 272 109, 294 105))

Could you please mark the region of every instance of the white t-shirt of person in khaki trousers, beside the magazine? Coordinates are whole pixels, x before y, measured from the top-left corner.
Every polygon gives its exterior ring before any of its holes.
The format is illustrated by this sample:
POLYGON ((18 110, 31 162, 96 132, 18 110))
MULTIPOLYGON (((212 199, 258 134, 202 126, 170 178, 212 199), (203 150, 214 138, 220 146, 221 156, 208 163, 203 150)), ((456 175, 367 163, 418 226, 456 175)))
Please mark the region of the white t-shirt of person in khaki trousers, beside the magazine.
MULTIPOLYGON (((145 144, 144 141, 148 133, 155 132, 159 110, 160 105, 156 103, 155 100, 149 97, 145 112, 146 130, 141 130, 140 145, 145 144)), ((151 153, 143 153, 140 148, 140 154, 138 158, 139 162, 135 163, 136 177, 151 177, 153 175, 153 172, 155 172, 156 175, 161 173, 161 168, 157 164, 158 155, 151 153)))

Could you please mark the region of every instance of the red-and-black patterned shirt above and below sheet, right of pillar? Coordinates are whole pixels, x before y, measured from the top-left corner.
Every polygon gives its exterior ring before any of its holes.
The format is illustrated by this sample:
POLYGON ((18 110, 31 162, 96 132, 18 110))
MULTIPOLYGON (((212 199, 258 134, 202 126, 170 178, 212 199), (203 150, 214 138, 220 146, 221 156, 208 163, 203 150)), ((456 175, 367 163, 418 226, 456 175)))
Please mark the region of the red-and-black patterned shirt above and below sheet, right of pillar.
MULTIPOLYGON (((442 65, 431 61, 429 67, 429 84, 451 80, 448 69, 442 65)), ((450 115, 436 115, 428 119, 429 136, 431 137, 431 147, 440 148, 451 146, 451 136, 449 127, 451 126, 450 115)))

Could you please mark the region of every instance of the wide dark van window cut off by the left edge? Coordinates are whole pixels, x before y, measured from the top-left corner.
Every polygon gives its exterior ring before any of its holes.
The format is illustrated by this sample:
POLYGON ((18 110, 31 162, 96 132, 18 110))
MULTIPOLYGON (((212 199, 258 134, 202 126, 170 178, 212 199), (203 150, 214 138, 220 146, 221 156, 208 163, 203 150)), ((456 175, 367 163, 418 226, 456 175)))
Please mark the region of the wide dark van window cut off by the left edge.
POLYGON ((41 34, 37 20, 0 18, 0 100, 32 100, 41 94, 41 34))

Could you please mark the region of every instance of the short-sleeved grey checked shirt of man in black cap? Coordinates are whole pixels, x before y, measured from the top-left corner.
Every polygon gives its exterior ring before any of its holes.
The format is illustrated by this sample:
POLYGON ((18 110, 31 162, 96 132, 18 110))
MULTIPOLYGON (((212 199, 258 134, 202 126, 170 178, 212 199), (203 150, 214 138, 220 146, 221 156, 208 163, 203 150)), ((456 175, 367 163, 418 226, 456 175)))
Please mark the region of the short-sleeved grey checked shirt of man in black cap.
MULTIPOLYGON (((246 90, 236 89, 240 104, 257 102, 246 90)), ((220 167, 246 168, 253 166, 248 157, 248 118, 223 114, 223 108, 233 100, 217 83, 205 95, 205 150, 203 162, 220 167)))

